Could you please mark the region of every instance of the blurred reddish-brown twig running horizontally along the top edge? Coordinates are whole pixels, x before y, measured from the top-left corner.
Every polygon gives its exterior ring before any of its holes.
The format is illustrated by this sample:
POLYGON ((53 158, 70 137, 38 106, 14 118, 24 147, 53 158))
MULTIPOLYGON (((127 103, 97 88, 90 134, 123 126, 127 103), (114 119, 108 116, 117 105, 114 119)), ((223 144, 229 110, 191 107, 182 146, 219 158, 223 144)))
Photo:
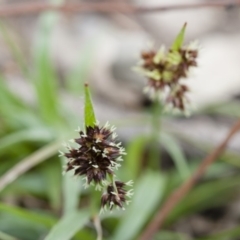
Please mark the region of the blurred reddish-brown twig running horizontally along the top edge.
POLYGON ((151 13, 181 9, 195 9, 206 7, 232 7, 240 5, 240 0, 221 0, 204 3, 187 3, 165 6, 134 6, 126 2, 95 2, 95 3, 65 3, 62 5, 52 5, 48 3, 27 3, 27 4, 9 4, 0 7, 0 17, 21 16, 38 14, 43 11, 52 10, 60 12, 101 12, 101 13, 151 13))

